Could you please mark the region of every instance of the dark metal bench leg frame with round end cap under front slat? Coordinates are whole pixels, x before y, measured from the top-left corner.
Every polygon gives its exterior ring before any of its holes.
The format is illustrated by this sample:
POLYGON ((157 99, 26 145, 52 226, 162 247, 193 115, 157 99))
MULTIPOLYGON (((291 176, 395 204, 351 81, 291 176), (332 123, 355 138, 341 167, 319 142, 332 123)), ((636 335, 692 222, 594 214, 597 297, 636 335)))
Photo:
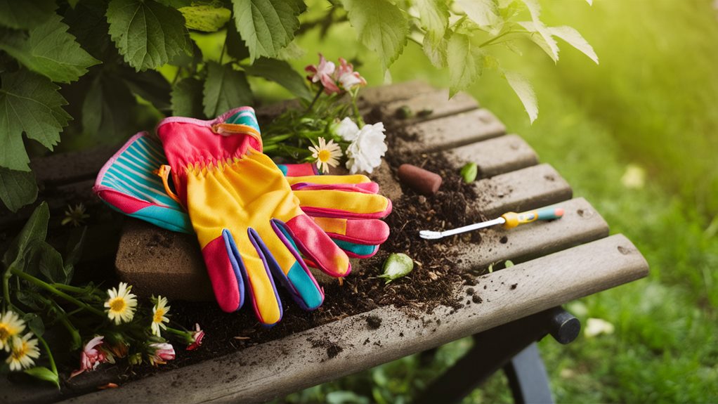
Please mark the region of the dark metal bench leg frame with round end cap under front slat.
POLYGON ((568 344, 578 337, 580 329, 576 317, 561 307, 554 307, 475 334, 474 347, 427 387, 416 403, 457 403, 502 367, 509 377, 516 403, 529 399, 552 401, 546 370, 535 343, 551 334, 561 344, 568 344))

